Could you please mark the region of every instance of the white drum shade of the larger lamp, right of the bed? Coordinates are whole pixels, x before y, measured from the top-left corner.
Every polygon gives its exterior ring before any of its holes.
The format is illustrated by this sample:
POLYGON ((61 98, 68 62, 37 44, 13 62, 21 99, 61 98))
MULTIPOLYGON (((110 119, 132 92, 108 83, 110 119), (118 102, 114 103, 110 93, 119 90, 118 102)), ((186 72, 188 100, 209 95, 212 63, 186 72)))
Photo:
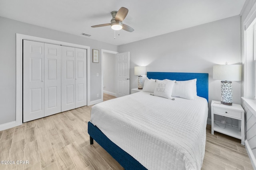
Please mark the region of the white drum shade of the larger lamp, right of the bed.
POLYGON ((212 78, 217 80, 241 81, 242 65, 241 64, 214 65, 212 78))

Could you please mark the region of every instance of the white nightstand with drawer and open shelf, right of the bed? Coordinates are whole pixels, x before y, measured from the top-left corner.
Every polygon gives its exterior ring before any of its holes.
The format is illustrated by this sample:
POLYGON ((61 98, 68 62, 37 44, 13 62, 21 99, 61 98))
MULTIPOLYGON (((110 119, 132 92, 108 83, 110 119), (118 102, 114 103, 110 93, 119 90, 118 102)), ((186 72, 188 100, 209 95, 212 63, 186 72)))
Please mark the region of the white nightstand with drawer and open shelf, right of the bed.
POLYGON ((241 139, 241 144, 244 145, 244 109, 239 104, 233 104, 232 106, 227 106, 220 104, 219 101, 212 100, 212 135, 214 131, 229 135, 238 139, 241 139), (230 117, 233 119, 238 119, 238 127, 232 127, 226 125, 226 128, 221 128, 223 124, 214 122, 214 115, 221 115, 230 117), (219 126, 218 126, 219 125, 219 126))

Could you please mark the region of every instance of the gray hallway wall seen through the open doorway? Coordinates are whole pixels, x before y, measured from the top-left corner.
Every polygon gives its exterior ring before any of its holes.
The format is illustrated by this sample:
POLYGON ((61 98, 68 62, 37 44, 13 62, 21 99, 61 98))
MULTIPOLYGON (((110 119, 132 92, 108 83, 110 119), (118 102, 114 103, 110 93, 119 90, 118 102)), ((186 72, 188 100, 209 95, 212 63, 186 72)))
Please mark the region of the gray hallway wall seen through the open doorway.
POLYGON ((103 90, 116 94, 116 55, 103 53, 103 90))

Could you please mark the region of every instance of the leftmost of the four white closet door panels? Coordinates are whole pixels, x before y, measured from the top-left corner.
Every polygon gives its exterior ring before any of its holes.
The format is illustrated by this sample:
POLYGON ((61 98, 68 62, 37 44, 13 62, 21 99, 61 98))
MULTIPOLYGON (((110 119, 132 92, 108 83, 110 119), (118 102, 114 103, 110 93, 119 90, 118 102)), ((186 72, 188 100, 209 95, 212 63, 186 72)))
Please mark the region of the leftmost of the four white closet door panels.
POLYGON ((44 117, 44 43, 23 41, 23 122, 44 117))

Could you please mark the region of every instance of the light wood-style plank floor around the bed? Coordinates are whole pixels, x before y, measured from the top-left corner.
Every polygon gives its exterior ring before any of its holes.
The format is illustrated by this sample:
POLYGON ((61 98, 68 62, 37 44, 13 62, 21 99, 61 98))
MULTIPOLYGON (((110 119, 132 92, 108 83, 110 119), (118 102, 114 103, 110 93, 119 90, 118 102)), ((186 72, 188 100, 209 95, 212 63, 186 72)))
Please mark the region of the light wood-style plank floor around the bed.
MULTIPOLYGON (((112 98, 104 94, 104 100, 112 98)), ((0 160, 15 162, 0 164, 0 170, 123 170, 95 141, 90 145, 90 108, 80 107, 0 131, 0 160), (28 160, 28 164, 17 164, 20 160, 28 160)), ((253 169, 240 140, 221 133, 211 135, 210 125, 206 133, 203 170, 253 169)))

